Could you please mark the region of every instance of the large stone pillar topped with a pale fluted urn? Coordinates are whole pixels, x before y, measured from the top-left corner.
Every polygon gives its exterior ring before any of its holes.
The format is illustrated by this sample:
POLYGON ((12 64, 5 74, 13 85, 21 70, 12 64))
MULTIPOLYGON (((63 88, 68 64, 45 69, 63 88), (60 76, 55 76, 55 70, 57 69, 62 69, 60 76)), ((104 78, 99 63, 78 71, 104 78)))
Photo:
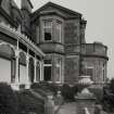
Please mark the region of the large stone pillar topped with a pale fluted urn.
POLYGON ((96 98, 93 93, 88 90, 88 87, 92 85, 93 81, 90 80, 90 76, 81 76, 78 84, 84 87, 84 89, 75 97, 77 114, 94 114, 96 98))

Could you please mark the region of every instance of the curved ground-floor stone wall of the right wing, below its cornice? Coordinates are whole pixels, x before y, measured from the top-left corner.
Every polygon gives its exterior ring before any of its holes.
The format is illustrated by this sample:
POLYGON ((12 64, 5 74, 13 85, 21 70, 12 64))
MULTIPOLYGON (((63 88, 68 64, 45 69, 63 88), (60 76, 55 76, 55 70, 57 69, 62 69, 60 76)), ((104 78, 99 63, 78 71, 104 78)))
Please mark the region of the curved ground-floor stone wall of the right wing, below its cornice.
POLYGON ((102 84, 106 79, 106 60, 100 58, 83 58, 81 61, 81 71, 84 71, 83 75, 88 75, 87 68, 92 69, 91 79, 94 84, 102 84))

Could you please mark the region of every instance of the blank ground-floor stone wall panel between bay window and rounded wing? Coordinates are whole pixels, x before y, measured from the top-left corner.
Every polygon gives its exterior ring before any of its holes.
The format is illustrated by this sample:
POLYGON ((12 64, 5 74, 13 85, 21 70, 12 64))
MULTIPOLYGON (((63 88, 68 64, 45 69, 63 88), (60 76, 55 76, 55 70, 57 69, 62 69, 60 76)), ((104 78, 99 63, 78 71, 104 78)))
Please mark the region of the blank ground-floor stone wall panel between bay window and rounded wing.
POLYGON ((79 76, 79 55, 66 55, 65 58, 64 81, 75 84, 79 76))

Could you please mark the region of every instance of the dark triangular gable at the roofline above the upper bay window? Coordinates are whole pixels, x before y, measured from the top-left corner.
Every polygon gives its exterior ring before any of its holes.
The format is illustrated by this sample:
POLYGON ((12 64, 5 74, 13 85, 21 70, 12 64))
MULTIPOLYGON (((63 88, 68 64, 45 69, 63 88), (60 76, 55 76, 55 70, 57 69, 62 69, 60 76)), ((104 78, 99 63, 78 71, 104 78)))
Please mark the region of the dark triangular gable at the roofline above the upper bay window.
POLYGON ((43 14, 43 13, 50 13, 50 12, 54 12, 55 14, 59 14, 63 16, 64 18, 71 18, 71 17, 80 18, 81 17, 80 13, 66 9, 59 4, 48 2, 47 4, 45 4, 43 7, 41 7, 40 9, 38 9, 31 14, 33 21, 36 20, 38 15, 43 14))

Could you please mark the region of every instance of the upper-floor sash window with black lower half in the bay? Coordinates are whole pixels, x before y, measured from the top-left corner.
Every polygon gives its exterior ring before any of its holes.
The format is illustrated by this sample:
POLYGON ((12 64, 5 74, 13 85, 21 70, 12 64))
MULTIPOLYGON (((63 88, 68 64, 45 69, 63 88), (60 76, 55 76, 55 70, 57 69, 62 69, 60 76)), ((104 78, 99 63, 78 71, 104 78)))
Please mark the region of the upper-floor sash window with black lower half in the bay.
POLYGON ((52 40, 52 21, 43 21, 43 38, 45 41, 52 40))

